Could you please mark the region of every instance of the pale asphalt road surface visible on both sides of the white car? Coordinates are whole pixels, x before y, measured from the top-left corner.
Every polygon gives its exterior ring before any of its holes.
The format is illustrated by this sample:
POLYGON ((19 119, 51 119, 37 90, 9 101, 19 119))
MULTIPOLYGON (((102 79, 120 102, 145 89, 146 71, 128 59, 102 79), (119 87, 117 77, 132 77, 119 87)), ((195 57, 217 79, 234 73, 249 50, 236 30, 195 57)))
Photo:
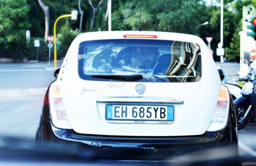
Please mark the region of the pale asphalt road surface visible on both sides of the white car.
MULTIPOLYGON (((228 81, 238 78, 239 64, 222 64, 222 68, 228 81)), ((54 70, 48 63, 0 64, 1 136, 34 139, 45 92, 55 80, 54 70)), ((256 162, 256 123, 240 130, 238 139, 242 159, 256 162)))

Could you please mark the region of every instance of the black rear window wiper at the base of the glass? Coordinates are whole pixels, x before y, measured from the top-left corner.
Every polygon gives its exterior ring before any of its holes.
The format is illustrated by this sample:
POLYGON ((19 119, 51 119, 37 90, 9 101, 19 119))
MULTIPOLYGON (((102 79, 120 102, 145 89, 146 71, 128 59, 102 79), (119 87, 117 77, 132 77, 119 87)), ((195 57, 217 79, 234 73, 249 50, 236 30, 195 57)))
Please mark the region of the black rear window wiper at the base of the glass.
POLYGON ((132 74, 132 75, 91 75, 92 78, 103 78, 103 79, 112 79, 120 81, 137 81, 143 79, 141 74, 132 74))

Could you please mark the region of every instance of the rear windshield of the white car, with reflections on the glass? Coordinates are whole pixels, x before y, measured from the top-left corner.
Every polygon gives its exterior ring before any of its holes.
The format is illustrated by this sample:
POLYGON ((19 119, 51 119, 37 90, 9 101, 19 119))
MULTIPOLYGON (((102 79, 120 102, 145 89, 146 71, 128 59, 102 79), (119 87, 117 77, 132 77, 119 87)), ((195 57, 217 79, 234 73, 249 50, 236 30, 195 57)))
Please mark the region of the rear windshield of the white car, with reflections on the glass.
POLYGON ((111 39, 81 42, 79 76, 141 74, 141 82, 195 82, 201 71, 198 44, 171 40, 111 39))

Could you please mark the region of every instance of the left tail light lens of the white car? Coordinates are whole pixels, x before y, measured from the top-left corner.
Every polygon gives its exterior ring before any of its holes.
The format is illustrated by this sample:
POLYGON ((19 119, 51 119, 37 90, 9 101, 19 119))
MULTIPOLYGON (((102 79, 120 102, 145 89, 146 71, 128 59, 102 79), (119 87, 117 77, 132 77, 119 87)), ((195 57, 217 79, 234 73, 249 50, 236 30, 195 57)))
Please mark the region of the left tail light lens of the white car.
POLYGON ((52 123, 57 128, 72 129, 64 109, 63 101, 57 82, 51 84, 49 90, 49 103, 52 123))

